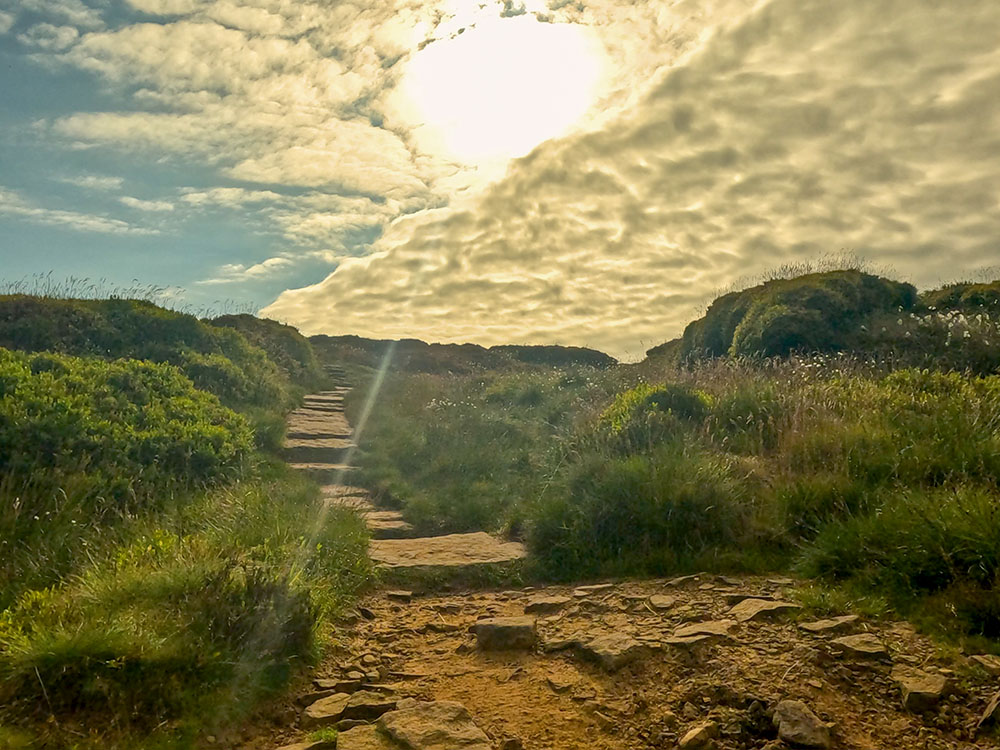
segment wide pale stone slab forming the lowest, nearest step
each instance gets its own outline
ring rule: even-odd
[[[523,544],[502,542],[484,531],[416,539],[374,539],[368,548],[371,559],[386,568],[454,568],[505,563],[520,560],[527,554]]]

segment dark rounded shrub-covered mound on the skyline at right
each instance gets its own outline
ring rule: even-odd
[[[961,341],[961,346],[954,345]],[[1000,370],[1000,281],[917,293],[857,270],[768,281],[716,299],[681,338],[646,352],[660,363],[842,353],[890,366]]]

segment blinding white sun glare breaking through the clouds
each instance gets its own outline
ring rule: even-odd
[[[400,93],[423,148],[481,165],[566,133],[594,104],[603,70],[586,27],[479,16],[418,52]]]

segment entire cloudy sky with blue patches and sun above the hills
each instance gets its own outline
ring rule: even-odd
[[[0,0],[7,282],[625,359],[854,253],[1000,264],[995,0]]]

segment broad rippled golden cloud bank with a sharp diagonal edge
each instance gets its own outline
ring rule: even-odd
[[[735,279],[822,252],[925,285],[995,263],[1000,6],[770,0],[682,36],[692,48],[631,108],[395,222],[263,314],[637,356]]]

